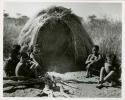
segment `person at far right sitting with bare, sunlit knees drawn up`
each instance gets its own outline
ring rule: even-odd
[[[100,80],[98,82],[97,88],[102,88],[103,83],[106,81],[110,81],[113,85],[113,82],[118,82],[118,75],[117,75],[117,68],[115,65],[115,58],[116,56],[113,54],[106,55],[106,61],[104,63],[104,67],[101,68],[100,71]]]

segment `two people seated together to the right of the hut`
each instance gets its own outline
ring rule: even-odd
[[[104,62],[103,62],[104,61]],[[86,64],[86,78],[92,77],[93,71],[97,68],[101,67],[100,78],[97,88],[102,88],[103,83],[106,81],[111,83],[111,86],[115,86],[118,83],[119,78],[119,68],[116,62],[115,54],[107,53],[105,58],[103,58],[101,54],[99,54],[99,46],[94,45],[92,48],[92,54],[90,54],[85,62]]]

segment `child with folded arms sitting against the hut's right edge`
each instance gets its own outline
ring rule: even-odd
[[[90,54],[85,62],[87,73],[86,78],[92,77],[92,69],[99,65],[99,61],[101,60],[101,55],[99,54],[99,46],[94,45],[92,48],[92,54]]]

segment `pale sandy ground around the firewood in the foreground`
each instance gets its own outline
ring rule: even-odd
[[[55,72],[50,72],[50,75],[61,77],[65,80],[72,80],[68,83],[70,86],[76,87],[71,88],[64,86],[65,89],[69,91],[68,95],[70,97],[121,97],[121,87],[110,87],[109,83],[105,83],[106,87],[102,89],[97,89],[96,85],[99,77],[94,76],[92,78],[85,78],[85,72],[69,72],[65,74],[59,74]],[[42,88],[33,87],[27,88],[25,86],[20,87],[7,87],[3,89],[4,97],[41,97]],[[58,97],[58,96],[56,96]]]

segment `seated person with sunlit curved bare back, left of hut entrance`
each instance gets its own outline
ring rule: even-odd
[[[27,53],[22,53],[19,63],[16,66],[16,76],[25,76],[31,78],[37,78],[38,64],[29,60]]]

